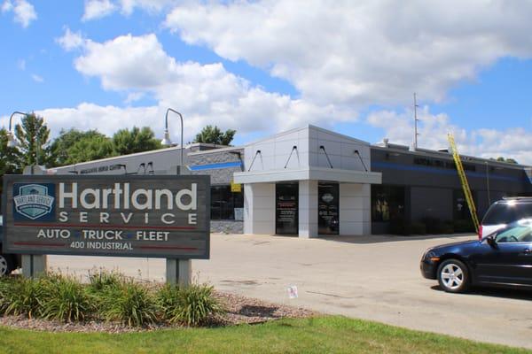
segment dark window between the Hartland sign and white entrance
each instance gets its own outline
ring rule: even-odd
[[[211,219],[242,219],[244,192],[231,192],[231,186],[211,186]],[[236,218],[235,218],[235,209]]]

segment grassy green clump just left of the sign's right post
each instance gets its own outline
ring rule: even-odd
[[[145,286],[122,281],[101,294],[101,309],[107,320],[119,320],[129,327],[144,326],[157,319],[157,304]]]

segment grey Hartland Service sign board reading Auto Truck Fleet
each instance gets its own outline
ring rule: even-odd
[[[210,178],[4,175],[4,251],[209,258]]]

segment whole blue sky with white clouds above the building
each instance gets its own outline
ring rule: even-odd
[[[530,2],[0,4],[3,126],[35,111],[52,135],[133,125],[161,135],[172,106],[189,140],[206,124],[237,129],[235,143],[315,124],[410,144],[416,91],[421,146],[446,146],[452,131],[466,153],[532,164],[532,44],[516,35],[532,30]]]

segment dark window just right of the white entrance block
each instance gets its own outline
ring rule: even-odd
[[[372,186],[372,221],[404,218],[404,187]]]

